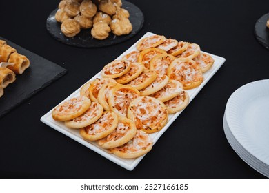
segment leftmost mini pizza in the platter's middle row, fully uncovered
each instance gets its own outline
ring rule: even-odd
[[[104,78],[118,78],[126,74],[131,68],[131,63],[128,60],[115,60],[103,67],[101,76]]]

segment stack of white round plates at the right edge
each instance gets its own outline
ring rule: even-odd
[[[269,177],[269,79],[243,85],[230,96],[223,128],[241,159]]]

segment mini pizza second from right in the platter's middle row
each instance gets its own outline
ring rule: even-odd
[[[159,99],[163,103],[169,101],[183,91],[183,86],[179,81],[169,80],[164,88],[151,94],[150,96]]]

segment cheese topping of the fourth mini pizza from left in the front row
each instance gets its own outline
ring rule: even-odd
[[[105,138],[101,139],[99,142],[107,143],[109,141],[117,141],[118,139],[121,139],[123,136],[125,136],[130,129],[131,129],[130,123],[128,123],[127,121],[119,120],[116,130],[114,130],[111,134],[109,134]]]

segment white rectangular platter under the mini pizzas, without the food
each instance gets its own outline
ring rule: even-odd
[[[141,37],[141,39],[143,39],[145,37],[150,37],[151,35],[154,35],[154,34],[151,32],[147,32],[145,35],[143,35],[143,37]],[[137,45],[137,43],[132,45],[128,50],[126,50],[126,52],[123,52],[123,54],[121,54],[117,59],[121,59],[124,55],[128,54],[129,52],[137,50],[136,45]],[[195,96],[199,93],[199,91],[203,88],[203,86],[206,85],[206,83],[208,83],[208,81],[211,79],[211,77],[217,72],[217,70],[219,70],[219,68],[221,68],[221,65],[223,65],[223,63],[225,62],[225,59],[223,57],[218,57],[218,56],[215,56],[213,54],[210,54],[210,56],[213,57],[213,59],[215,59],[215,63],[214,63],[214,65],[212,65],[212,68],[210,68],[210,70],[208,70],[206,73],[203,74],[203,77],[204,77],[203,83],[201,83],[201,85],[199,85],[199,87],[197,87],[197,88],[187,90],[187,92],[190,96],[190,102],[192,101],[192,99],[195,98]],[[96,74],[89,81],[92,81],[98,77],[101,77],[101,72]],[[79,96],[80,89],[81,88],[78,88],[76,91],[74,91],[70,96],[68,96],[63,101],[67,101],[73,97]],[[187,108],[188,108],[188,106],[187,106]],[[52,110],[53,109],[54,108],[52,108]],[[41,121],[43,123],[45,123],[46,125],[49,125],[51,128],[54,128],[55,130],[61,132],[62,134],[69,136],[71,139],[74,139],[75,141],[81,143],[82,145],[85,145],[86,147],[90,148],[90,150],[93,150],[94,152],[101,154],[101,156],[106,157],[106,159],[109,159],[110,161],[117,163],[118,165],[126,168],[127,170],[133,170],[137,166],[137,164],[143,159],[143,156],[141,156],[137,159],[121,159],[117,156],[114,156],[114,154],[108,153],[105,149],[100,148],[96,143],[91,142],[91,141],[86,141],[85,139],[83,139],[79,134],[79,130],[69,129],[64,125],[64,123],[61,123],[59,121],[54,121],[54,119],[52,119],[52,110],[50,110],[50,112],[46,113],[44,116],[41,117]],[[169,118],[168,118],[168,123],[164,126],[164,128],[159,132],[150,134],[150,136],[152,137],[153,143],[156,143],[158,141],[159,137],[164,132],[166,132],[166,130],[169,128],[169,126],[172,124],[172,122],[175,121],[175,119],[177,119],[177,117],[179,116],[179,114],[181,114],[181,112],[177,112],[176,114],[170,114]],[[152,148],[151,151],[154,151],[154,148]]]

